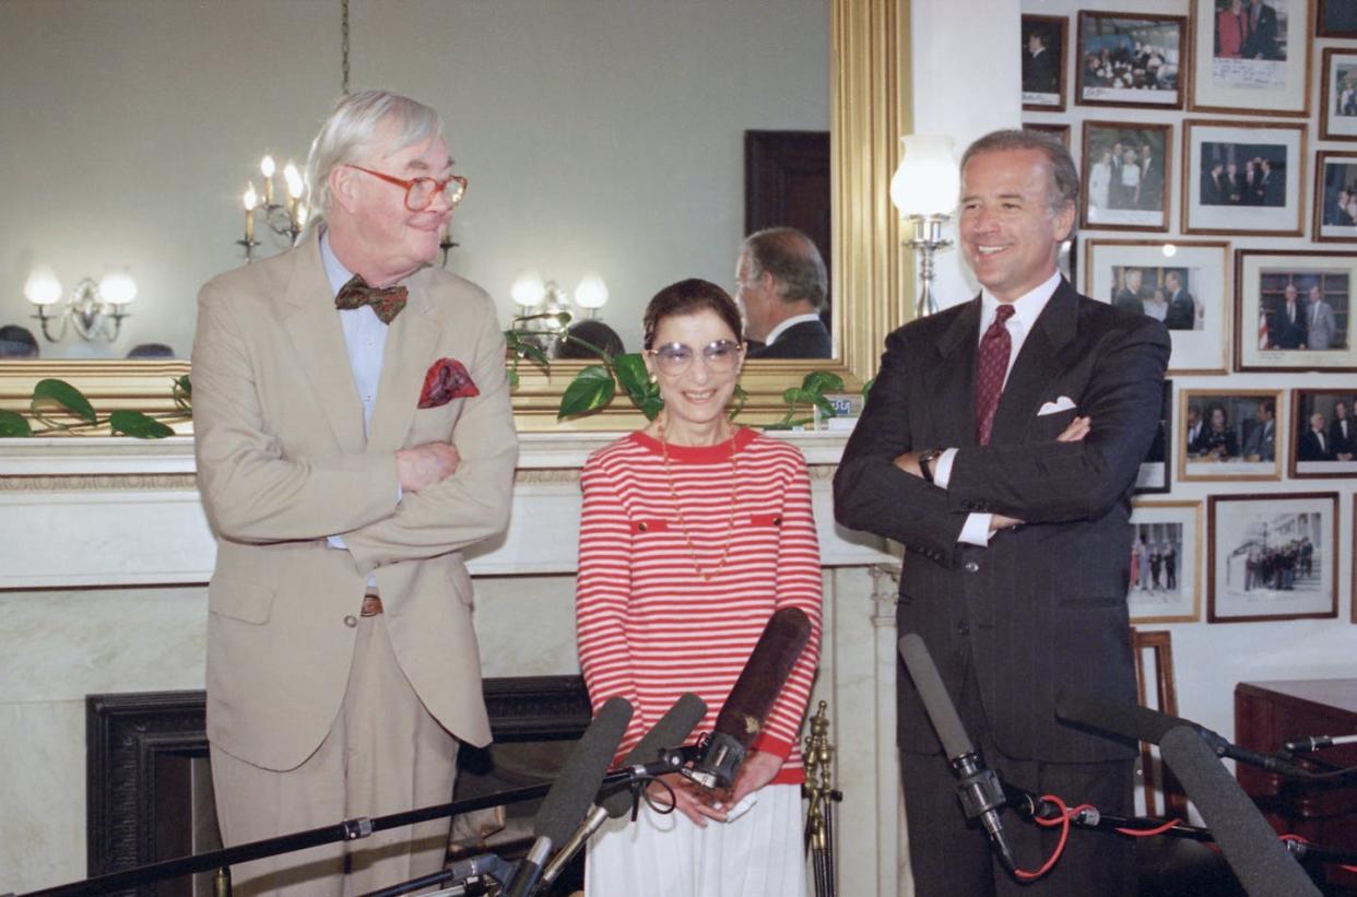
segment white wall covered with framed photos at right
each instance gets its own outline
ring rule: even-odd
[[[1357,634],[1357,24],[1265,5],[1025,0],[1014,47],[1084,178],[1075,285],[1172,334],[1129,600],[1219,731],[1238,681],[1352,676]]]

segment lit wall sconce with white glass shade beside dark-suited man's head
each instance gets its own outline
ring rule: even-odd
[[[919,251],[919,303],[915,316],[938,311],[932,292],[934,252],[951,246],[942,228],[957,209],[961,170],[953,156],[951,137],[911,134],[900,138],[905,155],[890,179],[890,201],[915,224],[915,237],[905,243]]]

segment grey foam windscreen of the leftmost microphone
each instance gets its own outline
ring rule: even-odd
[[[533,820],[532,833],[551,839],[555,845],[565,844],[575,826],[593,806],[608,764],[617,753],[617,745],[627,734],[631,722],[631,704],[622,698],[609,698],[598,708],[598,715],[589,729],[575,742],[547,797]]]

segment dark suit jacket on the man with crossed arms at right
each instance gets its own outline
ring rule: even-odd
[[[1061,281],[1010,372],[987,446],[974,434],[978,335],[977,299],[887,338],[835,476],[835,514],[905,546],[900,632],[923,636],[954,695],[965,657],[973,660],[1000,750],[1049,761],[1128,759],[1129,745],[1057,723],[1053,706],[1067,683],[1136,699],[1128,521],[1159,427],[1168,332]],[[1060,396],[1092,417],[1082,442],[1054,441],[1076,408],[1038,415]],[[893,464],[928,448],[958,449],[946,490]],[[972,512],[1027,524],[995,533],[985,548],[965,546],[957,536]],[[906,750],[939,748],[904,669],[898,738]]]

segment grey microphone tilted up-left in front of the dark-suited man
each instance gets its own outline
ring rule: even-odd
[[[968,820],[980,818],[980,824],[989,836],[989,844],[999,856],[999,862],[1006,870],[1012,873],[1018,869],[1014,860],[1012,847],[1004,833],[1003,820],[999,818],[999,807],[1004,805],[1004,786],[993,769],[985,767],[985,761],[976,753],[966,736],[966,727],[957,715],[957,706],[947,696],[947,688],[942,684],[942,676],[928,654],[928,646],[917,632],[911,632],[900,639],[900,657],[909,669],[909,677],[915,680],[919,698],[924,703],[928,722],[932,723],[942,742],[943,753],[951,763],[953,771],[961,779],[957,786],[957,795],[961,798],[961,807]]]

